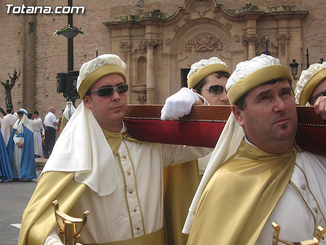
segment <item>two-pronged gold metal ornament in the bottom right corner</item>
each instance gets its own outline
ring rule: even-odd
[[[271,223],[271,227],[274,228],[273,245],[278,245],[279,242],[282,242],[283,244],[286,245],[319,245],[320,239],[322,238],[322,234],[326,233],[326,230],[324,228],[318,226],[316,235],[311,240],[292,242],[292,241],[287,241],[279,238],[281,227],[278,224],[273,222]]]

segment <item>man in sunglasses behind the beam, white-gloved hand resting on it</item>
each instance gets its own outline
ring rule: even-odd
[[[230,105],[225,85],[230,77],[228,65],[217,57],[192,64],[187,75],[188,88],[181,88],[168,97],[161,111],[161,120],[175,120],[190,113],[193,105]],[[211,154],[198,159],[202,176]]]

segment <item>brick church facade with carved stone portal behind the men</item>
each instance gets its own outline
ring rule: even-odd
[[[3,2],[0,81],[20,70],[12,89],[15,111],[38,110],[44,118],[55,106],[58,118],[66,99],[56,91],[56,75],[67,72],[67,39],[53,32],[67,26],[67,15],[7,14]],[[67,6],[67,0],[14,2]],[[268,54],[289,71],[296,60],[296,77],[307,68],[307,48],[310,64],[326,56],[326,10],[317,0],[74,0],[73,6],[85,6],[84,14],[73,15],[73,26],[86,33],[73,40],[74,70],[95,58],[96,48],[99,55],[119,55],[127,65],[128,104],[164,104],[185,86],[188,69],[200,59],[219,57],[233,71],[238,62],[265,54],[266,37]],[[0,107],[5,108],[2,85]]]

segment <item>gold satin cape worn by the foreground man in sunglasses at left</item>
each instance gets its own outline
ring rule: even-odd
[[[114,154],[118,152],[123,137],[147,143],[134,139],[127,130],[122,134],[103,129],[102,131]],[[169,240],[170,245],[186,244],[188,235],[182,234],[181,230],[199,184],[198,164],[197,161],[186,162],[164,170],[165,197],[167,197],[167,200],[164,198],[165,239]],[[58,226],[51,202],[58,200],[60,210],[68,213],[87,188],[87,185],[77,183],[73,178],[74,172],[60,171],[48,171],[40,176],[35,192],[23,213],[18,245],[44,244],[49,233]],[[129,244],[134,244],[132,239],[124,240],[123,244],[128,244],[127,241],[130,242]]]

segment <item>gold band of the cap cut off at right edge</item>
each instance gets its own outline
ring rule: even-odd
[[[315,88],[326,79],[326,67],[318,70],[308,79],[299,97],[299,105],[305,106]]]

